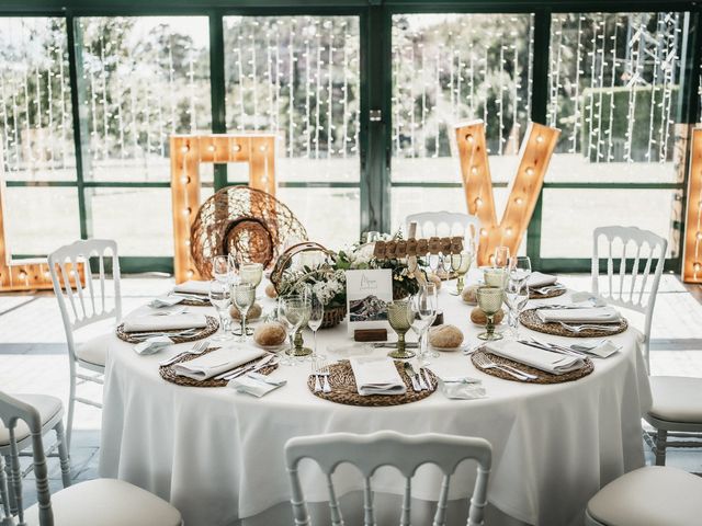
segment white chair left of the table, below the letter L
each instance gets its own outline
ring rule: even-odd
[[[106,265],[112,264],[113,297],[110,297]],[[86,285],[81,285],[75,272],[79,263],[84,263]],[[92,265],[94,263],[94,265]],[[75,403],[80,402],[95,408],[102,404],[93,400],[78,397],[78,382],[91,381],[102,385],[105,369],[105,345],[102,338],[94,338],[82,343],[76,341],[76,331],[92,323],[114,318],[115,324],[122,319],[122,296],[120,291],[120,262],[117,243],[113,240],[88,239],[76,241],[59,248],[48,255],[49,272],[54,283],[54,293],[64,321],[66,343],[68,345],[70,367],[70,397],[68,401],[68,419],[66,422],[67,444],[70,451],[70,439],[73,426]],[[69,266],[72,270],[69,270]],[[97,278],[91,273],[97,272]],[[75,283],[70,283],[70,274]],[[83,373],[83,369],[87,369]],[[95,373],[95,374],[91,374]]]

